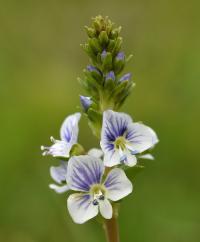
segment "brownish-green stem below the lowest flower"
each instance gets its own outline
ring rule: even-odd
[[[118,221],[115,216],[113,216],[111,219],[105,220],[104,230],[107,242],[120,242]]]

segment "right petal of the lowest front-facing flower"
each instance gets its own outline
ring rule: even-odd
[[[133,190],[133,185],[127,178],[122,169],[114,168],[108,173],[104,182],[107,188],[107,198],[112,201],[118,201],[130,194]]]

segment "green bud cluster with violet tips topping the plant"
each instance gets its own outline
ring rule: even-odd
[[[85,26],[85,30],[88,39],[81,46],[89,56],[90,65],[84,69],[84,77],[79,82],[91,98],[91,105],[84,112],[93,131],[94,126],[97,131],[103,111],[118,110],[134,86],[130,73],[121,75],[131,55],[126,57],[121,51],[121,27],[114,27],[108,17],[93,18],[91,27]]]

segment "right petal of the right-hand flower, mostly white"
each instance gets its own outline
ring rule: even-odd
[[[141,123],[128,125],[126,139],[129,141],[128,148],[134,154],[141,153],[158,142],[157,135],[153,129]]]

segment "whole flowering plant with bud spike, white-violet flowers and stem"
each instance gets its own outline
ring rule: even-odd
[[[88,96],[80,96],[80,103],[99,148],[85,151],[78,143],[81,113],[75,113],[64,120],[60,140],[51,137],[53,144],[41,149],[43,155],[60,160],[59,166],[50,168],[56,184],[49,187],[57,193],[74,191],[67,199],[73,221],[82,224],[100,214],[108,241],[118,242],[119,202],[133,191],[126,173],[141,167],[139,159],[153,159],[147,151],[158,138],[150,127],[118,112],[134,87],[130,73],[121,75],[131,58],[121,51],[121,28],[114,28],[108,17],[97,16],[85,29],[88,40],[82,47],[90,65],[79,82]]]

